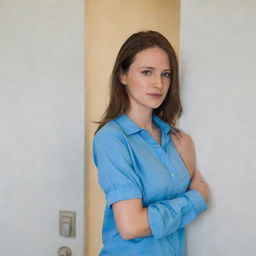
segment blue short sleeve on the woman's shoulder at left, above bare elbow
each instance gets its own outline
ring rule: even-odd
[[[96,133],[93,139],[93,160],[108,207],[117,201],[142,198],[140,181],[121,132],[111,130]]]

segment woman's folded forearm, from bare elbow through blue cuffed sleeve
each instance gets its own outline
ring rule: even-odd
[[[204,210],[205,201],[196,191],[150,204],[136,218],[129,239],[150,235],[163,238],[193,221]]]

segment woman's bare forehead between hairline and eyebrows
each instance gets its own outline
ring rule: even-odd
[[[169,57],[167,53],[160,47],[152,47],[138,52],[135,55],[133,66],[158,66],[161,68],[169,68]]]

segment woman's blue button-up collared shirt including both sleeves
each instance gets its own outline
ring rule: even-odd
[[[183,256],[184,227],[206,210],[170,137],[172,127],[152,115],[161,130],[161,145],[126,114],[107,122],[94,136],[93,160],[105,193],[100,256]],[[148,207],[151,236],[123,239],[112,204],[141,198]]]

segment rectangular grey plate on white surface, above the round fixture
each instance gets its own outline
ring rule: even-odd
[[[72,211],[59,211],[59,232],[61,236],[65,237],[75,237],[76,236],[76,212]],[[70,224],[70,232],[67,235],[66,230],[64,230],[64,223]]]

